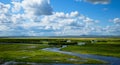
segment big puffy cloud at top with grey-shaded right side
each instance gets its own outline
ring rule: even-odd
[[[22,7],[25,13],[34,15],[51,15],[52,7],[49,0],[23,0]]]

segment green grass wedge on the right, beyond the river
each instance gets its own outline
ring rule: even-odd
[[[99,42],[96,44],[87,44],[82,46],[68,46],[63,48],[64,51],[82,53],[82,54],[96,54],[104,56],[120,57],[120,42],[105,43]]]

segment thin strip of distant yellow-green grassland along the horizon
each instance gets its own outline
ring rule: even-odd
[[[59,42],[63,40],[72,41],[106,41],[120,42],[120,38],[0,38],[0,43],[36,43],[42,44],[42,41]]]

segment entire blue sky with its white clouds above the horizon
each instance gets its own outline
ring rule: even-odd
[[[118,36],[119,3],[119,0],[0,0],[0,36]]]

